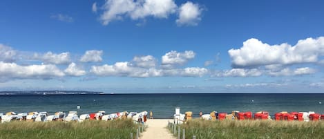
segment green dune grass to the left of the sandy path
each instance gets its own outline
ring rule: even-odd
[[[0,124],[0,139],[95,139],[130,138],[136,133],[137,124],[132,120],[84,121],[84,122],[19,122]]]

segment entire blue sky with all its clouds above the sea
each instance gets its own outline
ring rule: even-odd
[[[0,91],[323,93],[324,1],[1,1]]]

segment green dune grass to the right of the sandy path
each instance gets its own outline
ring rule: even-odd
[[[324,122],[191,120],[187,124],[182,124],[181,129],[186,130],[186,138],[192,138],[195,135],[197,139],[324,138]]]

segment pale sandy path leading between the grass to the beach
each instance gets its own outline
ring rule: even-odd
[[[171,133],[166,129],[170,119],[149,119],[146,121],[148,128],[140,139],[174,139]]]

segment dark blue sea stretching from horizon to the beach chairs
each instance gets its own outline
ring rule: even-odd
[[[81,109],[77,109],[77,105]],[[324,94],[113,94],[113,95],[0,95],[0,113],[15,111],[153,111],[154,118],[172,118],[175,107],[180,112],[193,111],[315,111],[324,114]]]

